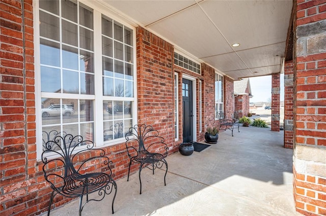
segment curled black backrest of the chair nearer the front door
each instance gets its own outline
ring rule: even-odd
[[[168,155],[168,145],[164,142],[164,138],[159,136],[157,130],[154,130],[152,126],[135,125],[134,127],[129,128],[128,132],[125,135],[126,138],[126,147],[128,155],[130,157],[130,147],[132,143],[136,142],[137,145],[132,147],[136,151],[159,151],[163,156]],[[161,149],[163,148],[163,149]]]

